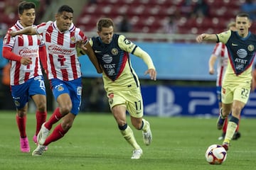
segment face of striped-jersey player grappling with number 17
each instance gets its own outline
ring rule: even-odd
[[[68,30],[71,26],[71,23],[73,23],[73,13],[63,11],[61,14],[56,14],[55,19],[60,32],[64,32]]]

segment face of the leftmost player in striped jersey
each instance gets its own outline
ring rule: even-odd
[[[34,8],[24,9],[22,14],[18,14],[23,27],[32,26],[36,19],[36,11]]]

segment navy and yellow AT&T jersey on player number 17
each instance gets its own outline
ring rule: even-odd
[[[92,38],[90,45],[103,69],[102,78],[106,91],[134,89],[140,86],[129,53],[142,57],[148,68],[154,69],[151,57],[124,35],[114,34],[110,44],[104,44],[100,37]]]

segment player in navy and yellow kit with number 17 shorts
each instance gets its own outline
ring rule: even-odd
[[[102,67],[102,79],[110,109],[124,139],[133,147],[131,158],[139,159],[142,156],[142,148],[127,125],[126,112],[129,112],[134,128],[142,130],[145,145],[150,145],[152,135],[149,122],[142,118],[143,101],[139,79],[132,69],[129,53],[144,60],[148,67],[145,74],[149,74],[153,80],[156,80],[156,69],[148,53],[124,35],[114,34],[112,19],[100,19],[97,22],[97,34],[97,37],[90,40],[90,45]]]

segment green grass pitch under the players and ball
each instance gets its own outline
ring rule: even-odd
[[[36,148],[32,140],[35,115],[28,114],[31,152],[26,154],[19,150],[15,113],[0,111],[0,169],[255,169],[255,119],[242,118],[242,137],[231,142],[226,161],[210,165],[205,159],[207,147],[221,144],[218,141],[221,132],[215,128],[216,118],[145,118],[153,132],[150,146],[143,144],[142,132],[132,128],[144,151],[141,159],[130,159],[132,147],[121,136],[114,118],[100,113],[80,113],[65,137],[51,143],[42,157],[32,157],[31,152]],[[127,120],[131,125],[129,118]]]

